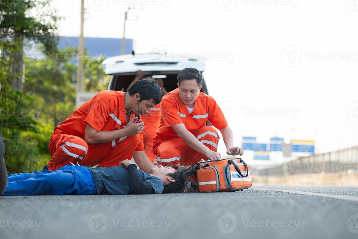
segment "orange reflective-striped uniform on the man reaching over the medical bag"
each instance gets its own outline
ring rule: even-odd
[[[179,166],[190,166],[201,159],[208,159],[179,138],[171,127],[176,124],[184,124],[200,143],[217,151],[219,135],[212,126],[206,126],[206,121],[209,120],[219,130],[228,124],[213,97],[200,92],[195,100],[194,110],[189,114],[187,106],[179,98],[177,88],[166,94],[160,105],[160,125],[153,139],[153,149],[159,164],[177,169]]]

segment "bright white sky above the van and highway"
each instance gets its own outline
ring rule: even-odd
[[[123,3],[128,2],[141,1],[85,0],[84,36],[122,38],[128,6]],[[236,146],[242,136],[256,136],[262,143],[275,136],[286,143],[316,140],[316,153],[358,145],[356,0],[144,3],[143,9],[129,12],[129,19],[137,20],[126,26],[136,53],[166,45],[174,53],[218,54],[219,60],[207,60],[204,77],[209,94],[233,111],[228,118]],[[58,34],[79,35],[81,1],[57,0],[54,7],[65,17]],[[292,58],[295,53],[299,57]],[[337,60],[344,53],[346,59]],[[289,56],[296,66],[287,66]],[[284,115],[252,111],[265,108],[283,109]],[[299,112],[297,117],[291,110]],[[219,151],[226,152],[222,140]]]

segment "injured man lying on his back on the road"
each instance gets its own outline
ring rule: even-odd
[[[147,174],[128,159],[120,166],[66,165],[56,171],[15,173],[8,176],[3,196],[181,193],[187,184],[184,173],[171,167],[159,165]]]

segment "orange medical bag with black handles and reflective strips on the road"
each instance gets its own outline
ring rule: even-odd
[[[250,165],[241,158],[195,163],[185,174],[197,178],[200,192],[233,192],[252,186]]]

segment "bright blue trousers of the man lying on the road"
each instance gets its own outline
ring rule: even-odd
[[[8,185],[2,196],[92,194],[97,194],[97,188],[90,169],[70,164],[56,171],[8,175]]]

